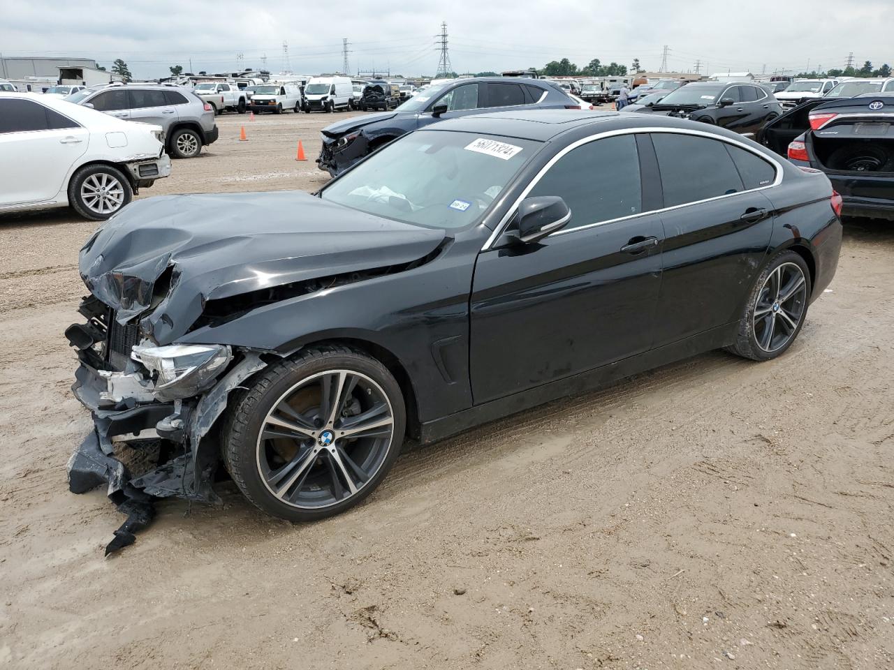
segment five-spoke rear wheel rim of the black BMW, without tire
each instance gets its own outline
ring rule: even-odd
[[[772,353],[789,344],[804,318],[806,306],[804,271],[794,263],[781,264],[757,294],[752,319],[757,346]]]

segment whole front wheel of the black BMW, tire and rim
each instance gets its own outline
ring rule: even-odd
[[[312,521],[366,498],[400,454],[401,388],[356,349],[323,346],[270,366],[232,404],[223,460],[269,515]]]

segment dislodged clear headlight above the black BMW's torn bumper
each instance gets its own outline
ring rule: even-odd
[[[195,396],[214,381],[232,359],[226,345],[172,344],[167,347],[137,346],[131,358],[155,377],[156,400]]]

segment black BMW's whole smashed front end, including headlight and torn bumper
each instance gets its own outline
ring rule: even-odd
[[[79,311],[87,322],[65,336],[80,361],[72,391],[94,429],[69,460],[69,488],[105,484],[128,516],[108,555],[134,541],[158,498],[219,502],[212,490],[218,448],[209,432],[230,391],[266,363],[256,352],[234,357],[226,346],[156,347],[139,323],[117,321],[97,297],[86,297]]]

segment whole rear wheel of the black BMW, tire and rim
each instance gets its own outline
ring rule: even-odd
[[[776,255],[755,282],[729,351],[753,361],[785,353],[804,325],[812,288],[804,258],[794,251]]]

